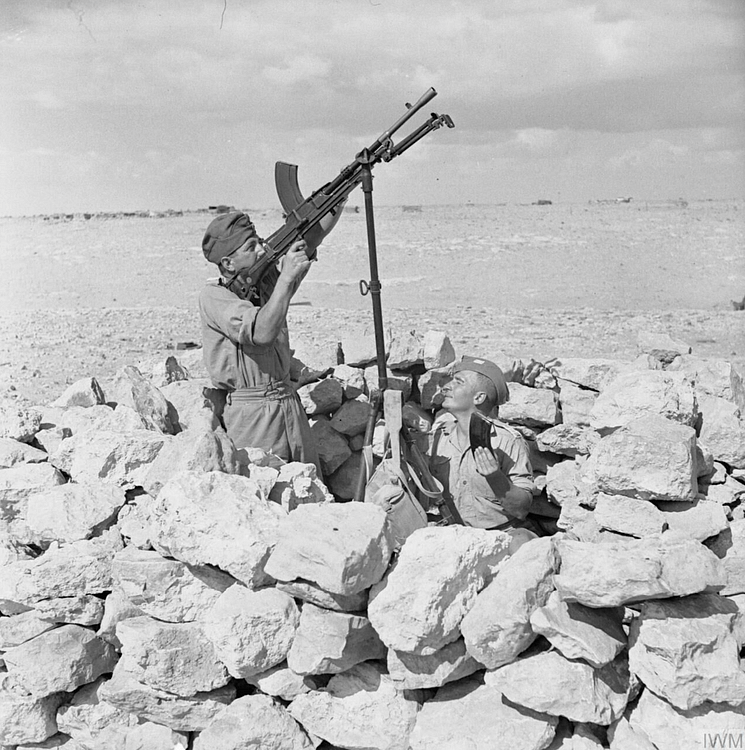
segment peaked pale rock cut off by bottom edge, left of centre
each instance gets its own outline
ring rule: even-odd
[[[194,750],[312,750],[308,735],[287,709],[268,695],[233,701],[194,740]]]

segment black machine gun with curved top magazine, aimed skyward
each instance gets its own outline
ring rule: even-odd
[[[305,240],[306,254],[312,260],[324,237],[336,226],[349,194],[366,180],[371,168],[381,162],[389,162],[413,146],[428,133],[445,125],[455,127],[449,115],[432,113],[429,119],[399,143],[392,141],[393,134],[413,115],[431,101],[437,92],[430,88],[416,104],[406,105],[406,112],[383,132],[370,146],[357,154],[355,160],[344,167],[331,182],[316,190],[309,198],[304,198],[297,181],[297,166],[278,161],[274,168],[274,182],[277,195],[285,212],[285,223],[264,241],[266,254],[254,265],[250,275],[237,276],[227,280],[226,285],[245,298],[255,298],[260,303],[271,293],[271,284],[262,285],[268,271],[276,267],[277,261],[287,253],[297,240]],[[364,186],[363,186],[364,189]],[[372,189],[372,177],[370,177]],[[368,229],[369,236],[369,229]],[[364,282],[360,282],[361,289]],[[368,285],[369,289],[372,289]],[[363,294],[366,291],[363,290]]]

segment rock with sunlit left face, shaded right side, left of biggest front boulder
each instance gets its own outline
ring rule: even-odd
[[[386,648],[362,615],[304,604],[287,666],[298,674],[337,674],[370,659],[385,659]]]

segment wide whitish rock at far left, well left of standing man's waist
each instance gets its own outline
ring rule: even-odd
[[[63,440],[49,460],[75,482],[137,487],[142,486],[166,439],[145,429],[114,432],[91,427]]]

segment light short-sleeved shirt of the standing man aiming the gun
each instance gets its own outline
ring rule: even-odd
[[[204,364],[216,388],[234,391],[290,377],[287,326],[268,346],[254,344],[256,316],[261,308],[210,280],[199,295]]]

